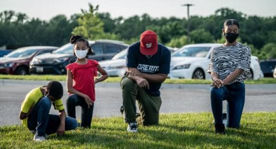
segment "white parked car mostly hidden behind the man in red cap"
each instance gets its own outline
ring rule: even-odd
[[[174,53],[178,48],[167,47],[171,53]],[[111,60],[99,62],[100,66],[105,69],[109,76],[123,76],[126,69],[126,54],[127,49],[116,54]]]

